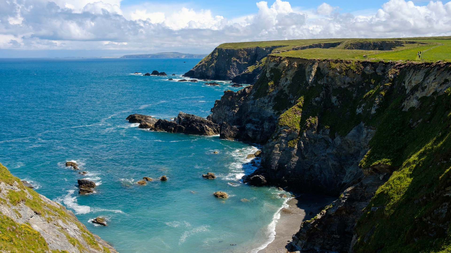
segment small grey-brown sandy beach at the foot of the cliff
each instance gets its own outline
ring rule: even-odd
[[[334,200],[336,198],[316,194],[302,194],[290,199],[287,202],[288,208],[281,210],[281,217],[276,223],[276,237],[258,253],[287,253],[285,246],[299,231],[302,221],[313,218]]]

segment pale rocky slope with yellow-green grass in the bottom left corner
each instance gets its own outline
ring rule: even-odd
[[[0,164],[0,252],[116,251],[74,213],[29,189]]]

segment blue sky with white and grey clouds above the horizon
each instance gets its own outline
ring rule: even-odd
[[[208,54],[226,42],[451,36],[451,1],[0,0],[0,58]]]

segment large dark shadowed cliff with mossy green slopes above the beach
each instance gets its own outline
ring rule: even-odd
[[[440,251],[450,239],[450,76],[444,62],[270,55],[255,84],[225,91],[208,118],[221,137],[264,144],[247,181],[340,195],[304,221],[295,249]]]

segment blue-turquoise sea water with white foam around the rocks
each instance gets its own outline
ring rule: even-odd
[[[256,252],[272,239],[285,203],[274,188],[239,181],[254,169],[245,163],[256,146],[147,131],[125,120],[180,111],[206,117],[224,90],[238,90],[131,74],[158,70],[180,79],[198,61],[0,59],[0,162],[120,253]],[[65,167],[70,160],[88,174]],[[203,179],[207,172],[218,178]],[[162,175],[168,181],[136,184]],[[96,192],[78,195],[79,178],[95,181]],[[217,190],[230,198],[216,199]],[[97,216],[109,226],[89,222]]]

